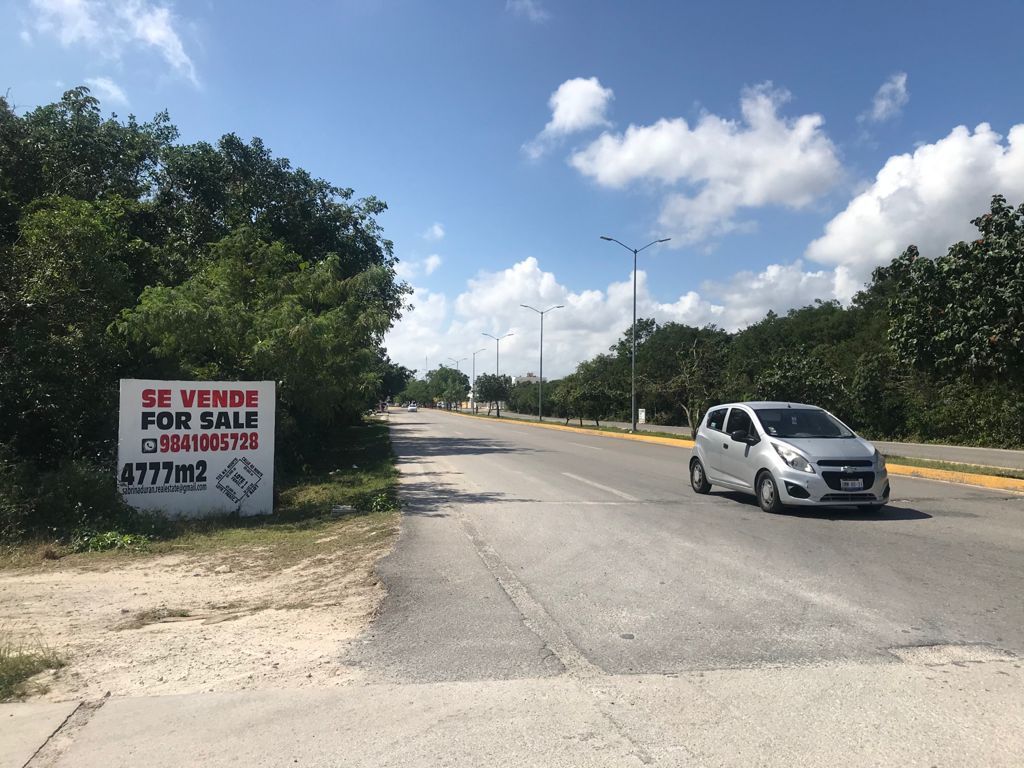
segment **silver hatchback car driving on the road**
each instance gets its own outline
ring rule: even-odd
[[[856,506],[889,501],[886,460],[871,443],[815,406],[716,406],[697,429],[690,484],[754,494],[765,512],[793,506]]]

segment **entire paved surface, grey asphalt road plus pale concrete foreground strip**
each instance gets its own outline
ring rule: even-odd
[[[766,515],[692,494],[679,447],[391,421],[359,682],[94,702],[29,768],[1020,764],[1024,496]]]

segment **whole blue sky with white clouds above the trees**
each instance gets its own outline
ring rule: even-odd
[[[831,7],[831,6],[836,7]],[[839,7],[842,5],[843,7]],[[557,377],[638,315],[848,302],[1024,202],[1024,3],[0,0],[19,111],[85,84],[357,196],[415,290],[396,361]],[[469,358],[469,359],[466,359]],[[465,360],[465,361],[464,361]]]

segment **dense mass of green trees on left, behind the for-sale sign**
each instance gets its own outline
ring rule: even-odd
[[[0,98],[2,538],[128,514],[120,378],[276,381],[283,473],[411,378],[382,348],[409,290],[386,206],[258,138],[177,135],[86,88],[24,115]]]

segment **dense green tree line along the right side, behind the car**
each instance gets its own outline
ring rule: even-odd
[[[1024,205],[996,196],[973,223],[979,238],[939,258],[907,248],[848,307],[769,312],[733,334],[638,321],[638,407],[679,425],[716,402],[793,400],[878,438],[1024,445]],[[553,413],[628,421],[630,338],[547,384]],[[536,395],[517,408],[536,414]]]

